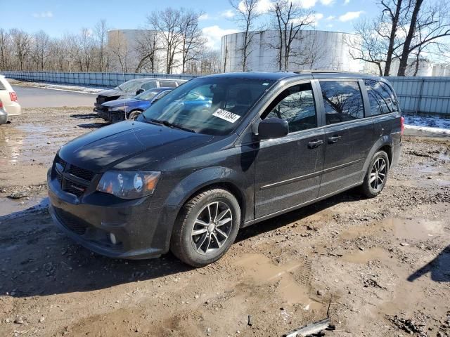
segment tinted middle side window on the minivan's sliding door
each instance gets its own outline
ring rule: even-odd
[[[364,118],[364,104],[356,81],[321,81],[326,124]]]

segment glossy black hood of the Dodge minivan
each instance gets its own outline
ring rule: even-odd
[[[203,145],[212,138],[167,126],[122,121],[75,138],[60,148],[59,156],[96,173],[109,169],[137,170]]]

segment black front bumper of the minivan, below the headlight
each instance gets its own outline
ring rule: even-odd
[[[122,206],[74,203],[71,195],[58,189],[58,181],[51,180],[51,174],[47,178],[53,221],[87,249],[127,259],[156,258],[169,250],[176,206],[149,208],[142,199],[124,201]],[[115,243],[110,234],[114,234]]]

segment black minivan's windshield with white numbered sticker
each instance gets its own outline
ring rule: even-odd
[[[193,79],[151,105],[138,121],[227,135],[273,84],[265,79]]]

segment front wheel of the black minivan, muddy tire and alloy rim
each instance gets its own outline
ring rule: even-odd
[[[200,192],[181,209],[170,250],[193,267],[209,265],[229,250],[239,226],[240,206],[233,194],[219,188]]]

